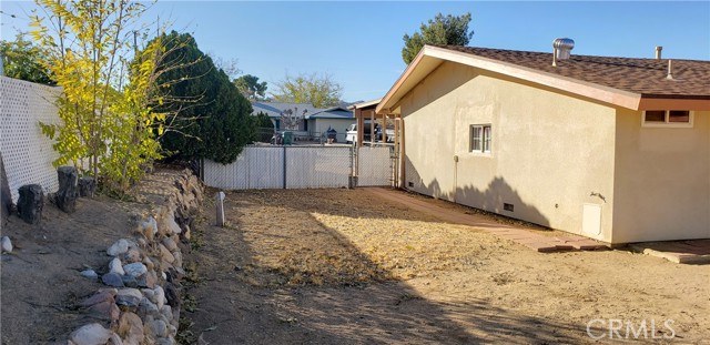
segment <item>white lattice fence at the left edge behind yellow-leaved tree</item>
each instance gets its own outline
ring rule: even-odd
[[[12,202],[24,184],[40,184],[45,193],[59,187],[52,166],[58,154],[38,124],[60,123],[54,106],[59,92],[58,88],[0,77],[0,152]]]

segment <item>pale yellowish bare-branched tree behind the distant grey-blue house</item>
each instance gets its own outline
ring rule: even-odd
[[[278,102],[311,103],[315,108],[334,106],[341,103],[343,87],[329,74],[300,74],[296,78],[286,74],[276,83],[274,100]]]

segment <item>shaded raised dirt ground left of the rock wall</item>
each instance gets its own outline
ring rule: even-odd
[[[74,328],[102,323],[78,304],[103,285],[79,273],[87,267],[105,273],[106,247],[131,234],[131,214],[144,207],[97,196],[79,199],[73,214],[45,203],[36,225],[10,216],[0,231],[14,246],[11,254],[2,254],[0,265],[2,344],[65,344]]]

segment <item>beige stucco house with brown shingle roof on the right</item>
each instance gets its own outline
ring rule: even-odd
[[[657,50],[658,51],[658,50]],[[426,45],[405,187],[610,243],[710,239],[710,61]]]

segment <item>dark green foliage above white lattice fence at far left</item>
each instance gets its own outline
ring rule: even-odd
[[[27,40],[24,33],[18,33],[14,41],[0,41],[0,55],[4,75],[41,84],[57,84],[51,71],[42,64],[47,60],[47,52]]]

